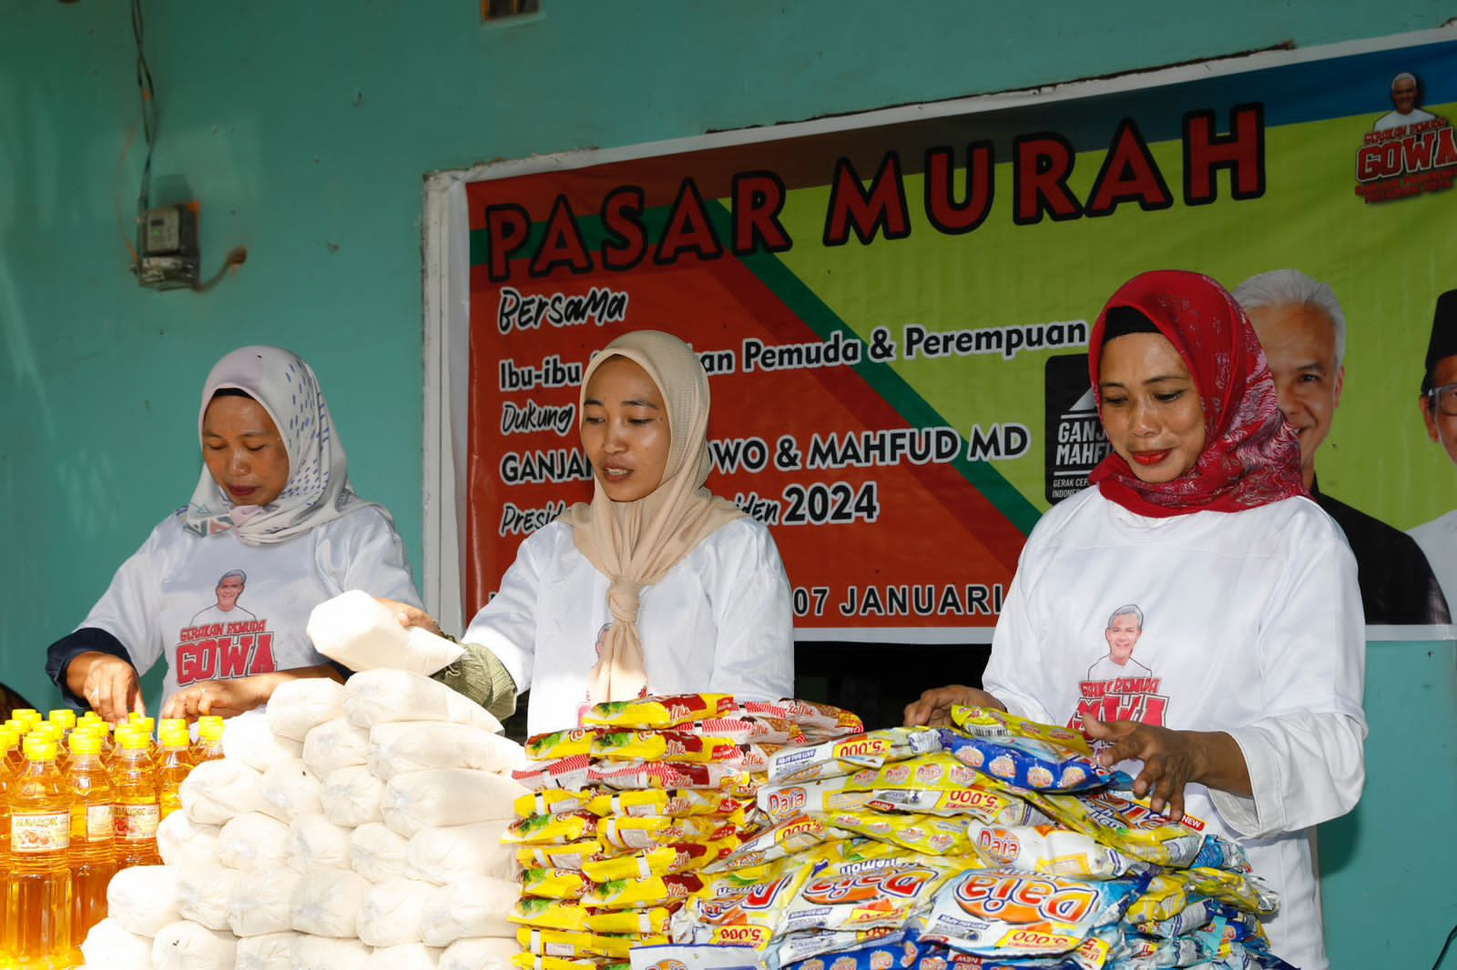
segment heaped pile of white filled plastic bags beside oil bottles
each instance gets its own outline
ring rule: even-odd
[[[296,680],[182,784],[165,865],[118,872],[106,970],[497,970],[520,953],[501,845],[522,747],[405,670]]]

